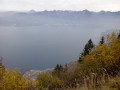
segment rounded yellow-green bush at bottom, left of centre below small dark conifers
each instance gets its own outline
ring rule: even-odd
[[[41,73],[38,75],[36,80],[39,83],[40,90],[54,90],[62,85],[62,81],[50,73]]]

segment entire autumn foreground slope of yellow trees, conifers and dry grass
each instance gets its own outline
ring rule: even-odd
[[[29,80],[0,63],[0,90],[120,90],[120,34],[90,39],[79,60]]]

